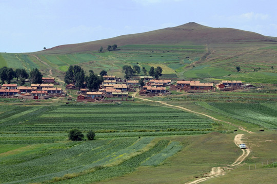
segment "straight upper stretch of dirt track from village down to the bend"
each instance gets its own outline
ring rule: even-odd
[[[145,99],[145,98],[141,98],[141,97],[135,97],[137,93],[138,93],[138,91],[136,91],[136,92],[132,95],[132,97],[133,97],[133,98],[141,99],[141,100],[143,100],[143,101],[159,102],[159,103],[161,103],[161,104],[163,104],[163,105],[167,105],[167,106],[170,106],[170,107],[179,108],[179,109],[186,110],[186,111],[188,111],[188,112],[192,112],[192,113],[196,113],[196,114],[201,114],[201,115],[203,115],[203,116],[205,116],[205,117],[208,117],[208,118],[210,118],[210,119],[212,119],[212,120],[224,122],[224,123],[227,123],[227,124],[232,125],[232,126],[234,126],[234,127],[238,127],[238,128],[239,128],[240,130],[242,130],[242,131],[245,131],[245,132],[248,132],[248,133],[254,133],[254,132],[252,132],[252,131],[250,131],[250,130],[244,129],[242,126],[237,126],[237,125],[234,125],[234,124],[232,124],[232,123],[230,123],[230,122],[216,119],[216,118],[214,118],[214,117],[212,117],[212,116],[209,116],[208,114],[205,114],[205,113],[196,112],[196,111],[190,110],[190,109],[188,109],[188,108],[181,107],[181,106],[177,106],[177,105],[171,105],[171,104],[168,104],[168,103],[166,103],[166,102],[155,101],[155,100],[149,100],[149,99]]]

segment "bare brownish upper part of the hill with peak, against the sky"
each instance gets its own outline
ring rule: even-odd
[[[119,47],[128,44],[209,44],[234,41],[273,41],[274,37],[267,37],[259,33],[243,31],[233,28],[212,28],[188,22],[187,24],[148,31],[136,34],[127,34],[113,38],[95,40],[83,43],[58,45],[51,49],[38,51],[42,54],[75,53],[98,50],[101,46],[117,44]]]

